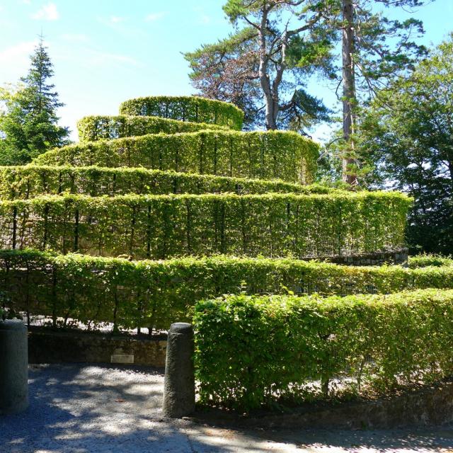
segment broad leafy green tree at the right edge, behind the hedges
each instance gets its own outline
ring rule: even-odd
[[[370,182],[404,190],[413,252],[453,253],[453,38],[396,79],[360,124],[360,148],[376,171]]]

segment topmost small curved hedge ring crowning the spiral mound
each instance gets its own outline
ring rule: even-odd
[[[243,111],[231,103],[197,96],[147,96],[125,101],[120,115],[143,115],[206,122],[241,130]]]

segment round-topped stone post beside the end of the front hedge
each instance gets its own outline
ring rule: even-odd
[[[164,415],[180,418],[195,411],[193,328],[171,324],[168,331],[164,381]]]

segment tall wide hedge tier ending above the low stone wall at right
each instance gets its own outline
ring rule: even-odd
[[[404,244],[399,193],[63,195],[0,202],[0,247],[132,258],[324,257]]]

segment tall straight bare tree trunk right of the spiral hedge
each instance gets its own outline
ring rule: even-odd
[[[357,184],[357,176],[350,173],[350,166],[354,164],[351,154],[354,151],[354,141],[352,134],[354,133],[355,117],[355,74],[354,61],[352,55],[354,53],[354,11],[352,8],[352,0],[343,0],[343,40],[342,40],[342,55],[343,55],[343,138],[347,151],[343,156],[343,181],[350,185]]]

